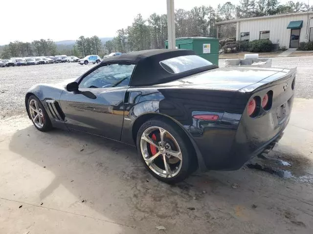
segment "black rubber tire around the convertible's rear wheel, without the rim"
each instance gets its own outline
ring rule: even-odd
[[[168,133],[170,133],[175,140],[177,141],[180,152],[181,152],[181,168],[179,173],[176,176],[173,177],[162,177],[157,175],[154,171],[150,169],[150,167],[145,162],[141,150],[140,150],[140,140],[143,132],[150,128],[150,127],[161,127],[164,130],[166,130]],[[157,179],[169,183],[174,184],[178,183],[182,180],[184,180],[186,177],[188,177],[192,172],[194,172],[197,169],[197,157],[195,155],[195,150],[193,145],[191,144],[189,138],[186,136],[184,131],[175,123],[172,123],[171,121],[165,119],[165,118],[152,118],[146,121],[141,125],[141,127],[138,130],[137,138],[136,138],[136,146],[138,151],[138,156],[140,157],[141,161],[147,168],[147,170],[152,174],[152,176],[156,177]]]

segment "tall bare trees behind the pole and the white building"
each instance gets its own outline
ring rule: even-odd
[[[216,37],[216,22],[247,17],[260,17],[284,13],[296,13],[313,10],[303,2],[289,1],[280,4],[278,0],[241,0],[238,5],[230,1],[212,6],[194,7],[189,11],[175,10],[176,37]],[[236,25],[221,25],[219,38],[235,35]],[[117,30],[117,36],[104,45],[105,52],[129,52],[135,50],[164,48],[167,39],[166,14],[152,14],[143,19],[139,14],[132,25]]]

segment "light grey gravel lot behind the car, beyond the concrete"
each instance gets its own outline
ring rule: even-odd
[[[296,97],[313,98],[313,56],[273,58],[273,67],[298,68]],[[220,59],[224,67],[225,60]],[[0,118],[25,112],[24,95],[34,84],[57,83],[77,78],[93,64],[58,63],[25,67],[0,68]]]

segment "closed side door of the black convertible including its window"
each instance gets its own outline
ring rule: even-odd
[[[79,81],[79,92],[64,91],[61,108],[68,128],[120,140],[124,98],[134,64],[96,66]]]

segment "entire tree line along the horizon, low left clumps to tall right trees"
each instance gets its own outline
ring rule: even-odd
[[[236,18],[259,17],[284,13],[296,13],[313,10],[303,2],[289,1],[280,4],[278,0],[241,0],[238,5],[230,1],[212,6],[194,7],[187,11],[175,10],[176,37],[216,37],[216,22]],[[219,38],[234,36],[236,26],[221,25]],[[97,36],[79,37],[71,48],[57,49],[56,44],[50,39],[34,40],[33,42],[14,41],[2,49],[2,58],[49,56],[67,54],[78,57],[97,54],[102,56],[112,52],[126,53],[129,51],[161,49],[167,39],[167,15],[152,14],[148,19],[143,19],[138,14],[132,25],[117,30],[117,36],[102,44]]]

